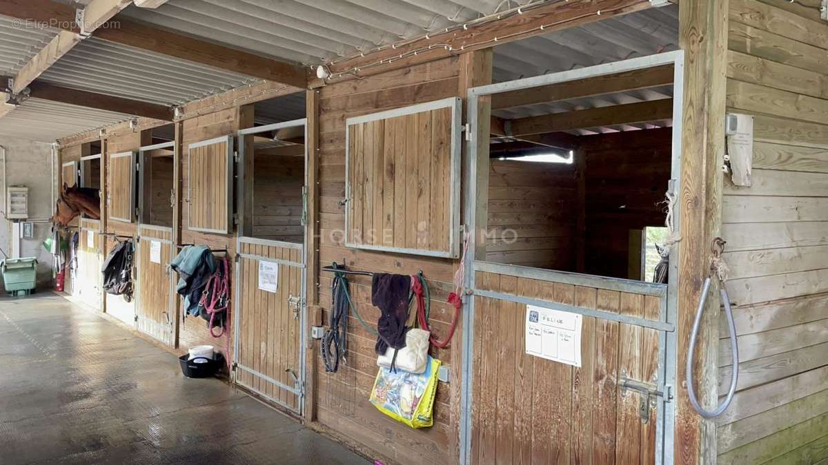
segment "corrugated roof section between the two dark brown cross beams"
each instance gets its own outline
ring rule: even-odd
[[[257,82],[190,61],[90,37],[41,74],[44,81],[166,105],[205,98]]]

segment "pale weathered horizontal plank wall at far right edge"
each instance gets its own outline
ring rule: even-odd
[[[730,2],[728,110],[755,115],[755,146],[753,185],[724,181],[741,362],[719,463],[828,458],[828,25],[817,3]],[[724,328],[722,317],[720,393],[734,371]]]

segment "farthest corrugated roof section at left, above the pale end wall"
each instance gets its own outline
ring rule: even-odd
[[[130,119],[124,113],[107,112],[66,103],[29,98],[0,118],[0,134],[32,141],[54,142],[96,127]]]

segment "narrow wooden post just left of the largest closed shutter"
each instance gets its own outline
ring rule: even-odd
[[[305,352],[305,422],[316,420],[316,397],[319,386],[319,372],[316,361],[319,360],[319,345],[310,338],[310,328],[322,324],[322,309],[319,306],[319,96],[320,91],[306,91],[305,104],[307,137],[305,152],[307,154],[307,227],[306,227],[306,344]]]

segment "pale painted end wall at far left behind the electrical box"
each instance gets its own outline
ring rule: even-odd
[[[38,261],[37,284],[38,289],[51,287],[52,258],[42,246],[46,237],[51,234],[51,218],[54,205],[53,175],[55,175],[55,160],[52,156],[52,146],[46,142],[28,141],[13,137],[0,136],[0,146],[6,149],[6,180],[0,183],[0,249],[11,254],[12,250],[12,221],[6,219],[7,185],[25,185],[29,188],[29,218],[34,223],[34,237],[22,239],[21,256],[35,256]],[[2,159],[2,150],[0,150]],[[0,160],[2,163],[2,160]],[[2,170],[2,166],[0,166]],[[2,177],[2,171],[0,171]],[[2,258],[2,254],[0,254]],[[5,289],[3,289],[5,291]]]

